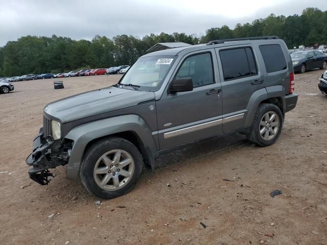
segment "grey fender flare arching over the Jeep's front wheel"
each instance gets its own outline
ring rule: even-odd
[[[149,155],[158,151],[150,128],[138,115],[123,115],[92,121],[72,129],[65,136],[74,141],[67,165],[66,178],[70,180],[78,178],[83,154],[90,141],[126,131],[135,133],[141,139],[145,148],[148,149]]]

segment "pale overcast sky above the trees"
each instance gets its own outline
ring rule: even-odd
[[[0,46],[26,35],[91,40],[161,32],[204,34],[206,29],[276,15],[327,10],[325,0],[0,0]]]

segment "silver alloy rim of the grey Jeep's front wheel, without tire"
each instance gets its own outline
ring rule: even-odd
[[[134,160],[123,150],[112,150],[103,154],[94,167],[94,179],[97,185],[108,191],[125,186],[134,173]]]

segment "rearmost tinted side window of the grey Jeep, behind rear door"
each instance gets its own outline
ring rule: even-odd
[[[259,48],[268,73],[287,68],[284,53],[279,44],[260,45]]]

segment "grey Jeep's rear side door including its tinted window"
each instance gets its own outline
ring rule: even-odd
[[[265,87],[251,45],[216,48],[223,96],[223,132],[244,126],[247,104],[256,90]]]

